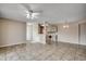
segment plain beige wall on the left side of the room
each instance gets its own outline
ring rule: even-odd
[[[23,43],[26,40],[26,23],[0,20],[0,47]]]

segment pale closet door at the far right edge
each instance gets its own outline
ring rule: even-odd
[[[86,46],[86,23],[81,24],[81,35],[79,35],[79,44]]]

